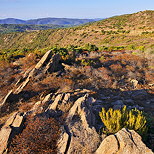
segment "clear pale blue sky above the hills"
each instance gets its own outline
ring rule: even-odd
[[[154,10],[154,0],[0,0],[0,18],[104,18]]]

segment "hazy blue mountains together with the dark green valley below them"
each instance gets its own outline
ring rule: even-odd
[[[20,20],[15,18],[7,18],[0,20],[0,33],[72,27],[98,20],[100,19],[39,18],[30,20]]]

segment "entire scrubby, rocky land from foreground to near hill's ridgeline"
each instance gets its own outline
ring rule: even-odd
[[[0,153],[152,154],[153,14],[0,34]]]

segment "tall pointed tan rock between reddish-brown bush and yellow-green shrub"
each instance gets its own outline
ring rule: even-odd
[[[87,98],[88,95],[78,98],[68,113],[65,130],[69,137],[64,133],[59,143],[67,143],[63,149],[65,153],[93,153],[100,143],[100,137],[94,128],[95,115]],[[61,148],[58,151],[62,154]]]

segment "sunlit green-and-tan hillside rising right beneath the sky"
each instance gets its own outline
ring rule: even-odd
[[[0,49],[46,48],[54,45],[143,46],[154,44],[154,11],[115,16],[82,26],[0,34]]]

